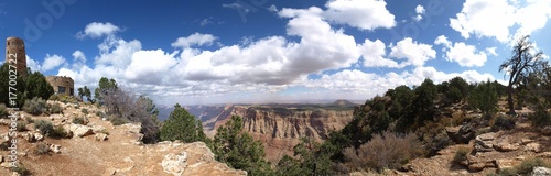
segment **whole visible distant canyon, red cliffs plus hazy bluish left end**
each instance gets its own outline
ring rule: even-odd
[[[185,109],[203,122],[210,138],[231,116],[241,117],[244,130],[263,143],[266,158],[274,164],[285,154],[292,156],[301,138],[322,142],[331,131],[343,129],[352,121],[357,105],[336,100],[329,103],[185,106]],[[161,108],[160,120],[168,119],[172,110]]]

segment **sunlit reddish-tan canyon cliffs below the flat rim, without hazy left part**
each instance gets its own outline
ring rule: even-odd
[[[285,154],[293,154],[293,147],[301,138],[324,141],[331,131],[343,129],[353,114],[353,108],[331,110],[234,106],[231,113],[216,121],[214,129],[223,125],[229,117],[240,116],[245,123],[244,130],[255,140],[260,140],[264,144],[266,158],[277,163]],[[210,135],[215,134],[213,131]]]

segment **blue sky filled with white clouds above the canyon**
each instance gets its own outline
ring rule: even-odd
[[[365,100],[400,85],[505,81],[530,34],[551,51],[549,0],[86,1],[0,3],[0,37],[28,65],[156,103]]]

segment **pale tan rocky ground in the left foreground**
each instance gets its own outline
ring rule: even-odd
[[[48,103],[52,103],[48,101]],[[24,121],[52,121],[54,125],[63,125],[73,133],[71,139],[44,138],[28,124],[29,131],[18,132],[18,158],[32,175],[247,175],[244,170],[229,168],[226,164],[214,160],[214,154],[202,142],[180,143],[161,142],[142,144],[139,133],[140,124],[127,123],[112,125],[109,121],[95,116],[102,111],[93,106],[63,105],[64,114],[30,116],[20,111]],[[88,123],[72,124],[72,117],[85,116],[80,109],[87,108]],[[0,121],[0,142],[8,143],[9,119]],[[36,154],[36,147],[47,144],[47,154]],[[0,151],[2,158],[0,175],[12,175],[9,169],[10,151]],[[15,174],[14,174],[15,175]]]

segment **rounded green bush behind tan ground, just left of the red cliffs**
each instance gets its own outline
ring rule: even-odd
[[[206,140],[201,121],[179,103],[174,106],[174,110],[171,112],[169,119],[164,121],[160,134],[161,141],[180,140],[185,143],[192,143]]]

